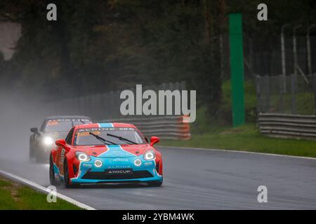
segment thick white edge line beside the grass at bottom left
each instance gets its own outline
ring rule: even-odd
[[[20,176],[16,176],[15,174],[11,174],[9,172],[4,172],[2,170],[0,170],[0,174],[3,174],[4,176],[8,177],[9,179],[15,179],[17,181],[20,181],[22,183],[25,183],[27,186],[35,189],[35,190],[39,190],[41,192],[44,192],[44,193],[51,193],[50,190],[48,190],[47,188],[43,187],[43,186],[40,186],[39,184],[37,183],[34,183],[32,181],[29,181],[27,179],[24,179]],[[56,193],[56,196],[59,197],[60,199],[62,200],[65,200],[67,202],[70,202],[71,204],[74,204],[76,205],[77,207],[81,208],[81,209],[86,209],[86,210],[96,210],[94,209],[93,207],[90,207],[84,203],[81,203],[81,202],[78,202],[76,200],[73,200],[71,197],[67,197],[66,195],[62,195],[60,193]]]

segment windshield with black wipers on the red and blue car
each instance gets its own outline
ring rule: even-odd
[[[100,138],[96,138],[96,136]],[[105,139],[106,141],[100,141],[100,139]],[[145,144],[145,141],[142,137],[140,137],[140,134],[137,132],[137,130],[130,127],[100,127],[80,129],[77,130],[74,136],[74,145],[77,146],[99,146],[111,144]]]

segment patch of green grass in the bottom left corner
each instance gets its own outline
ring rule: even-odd
[[[61,199],[48,203],[46,195],[0,176],[0,210],[77,210]]]

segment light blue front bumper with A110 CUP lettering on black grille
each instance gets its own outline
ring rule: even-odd
[[[137,159],[142,162],[140,166],[134,164]],[[94,165],[96,160],[102,162],[100,167]],[[72,167],[72,169],[74,169],[75,174],[75,177],[71,179],[72,184],[162,181],[155,160],[144,160],[143,155],[127,158],[97,158],[91,156],[89,162],[80,162],[78,167]],[[75,169],[77,169],[77,172]],[[131,173],[108,174],[106,172],[108,170],[129,170]]]

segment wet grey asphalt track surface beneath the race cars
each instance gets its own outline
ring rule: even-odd
[[[158,147],[159,149],[159,147]],[[316,160],[160,148],[162,187],[84,186],[58,192],[96,209],[316,209]],[[0,155],[0,169],[49,186],[48,165]],[[258,203],[258,186],[268,203]]]

